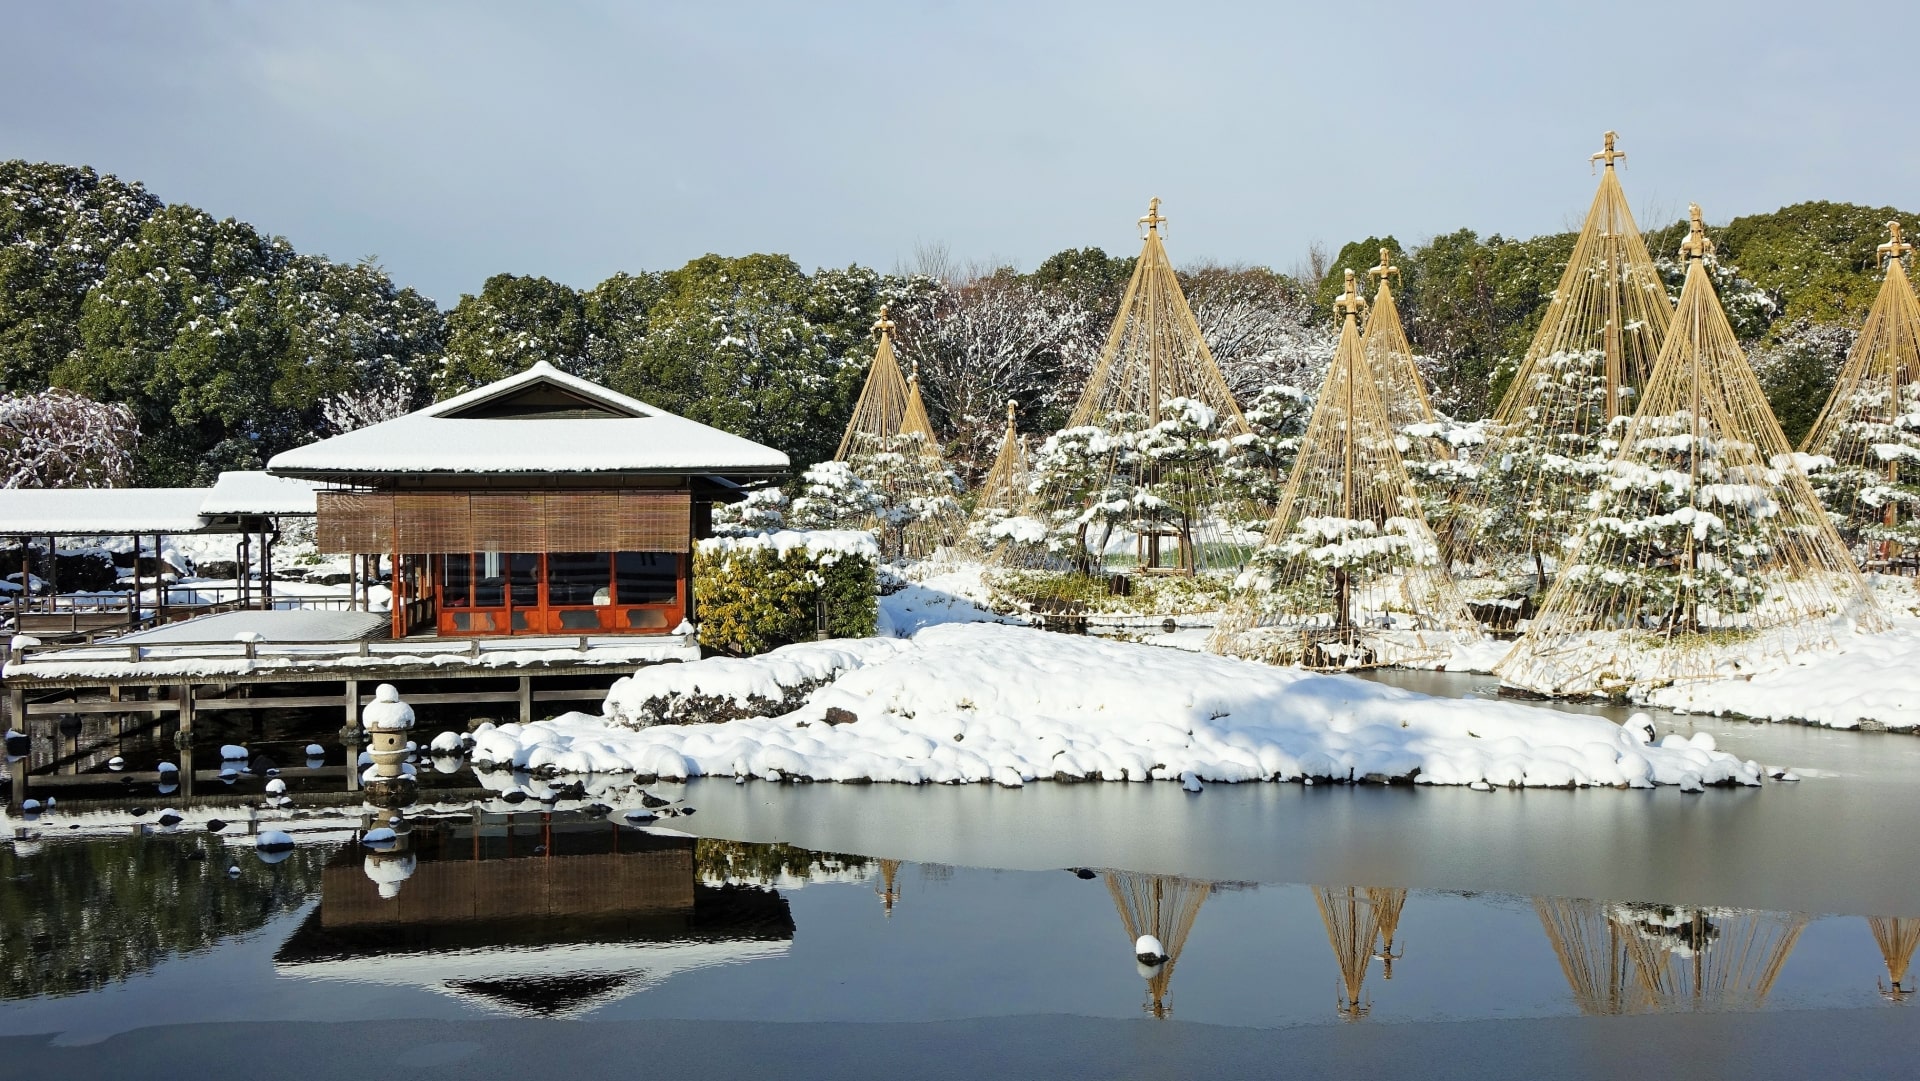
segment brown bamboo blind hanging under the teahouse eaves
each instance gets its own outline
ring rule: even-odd
[[[323,551],[687,551],[687,492],[323,492]]]

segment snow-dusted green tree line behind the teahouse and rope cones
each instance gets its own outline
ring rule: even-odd
[[[1889,219],[1914,221],[1891,207],[1799,204],[1715,230],[1728,309],[1789,438],[1812,422],[1853,344]],[[1670,255],[1680,236],[1684,223],[1663,225],[1647,244]],[[1436,407],[1475,419],[1526,349],[1572,234],[1457,230],[1413,246],[1369,236],[1288,271],[1187,267],[1194,315],[1242,401],[1273,384],[1313,390],[1332,353],[1340,271],[1363,273],[1380,248],[1402,269],[1400,305]],[[993,457],[1008,399],[1023,430],[1066,420],[1131,273],[1133,257],[1100,248],[1029,273],[964,267],[939,250],[891,273],[703,255],[584,290],[501,273],[444,311],[372,261],[305,255],[86,167],[4,161],[0,394],[61,388],[131,413],[138,440],[115,451],[131,468],[61,459],[61,476],[205,484],[543,359],[776,445],[799,474],[833,455],[872,355],[868,328],[889,305],[900,357],[972,478]],[[54,401],[73,407],[71,396]],[[88,430],[125,438],[119,417]],[[0,432],[0,455],[17,457],[10,447],[23,442],[44,445]],[[8,476],[21,482],[19,468]]]

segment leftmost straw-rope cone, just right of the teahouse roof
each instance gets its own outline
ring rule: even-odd
[[[918,372],[914,380],[900,378],[885,307],[874,332],[879,336],[874,365],[833,461],[847,463],[883,497],[885,509],[862,522],[879,538],[881,551],[893,559],[924,559],[958,541],[964,518],[920,399]]]

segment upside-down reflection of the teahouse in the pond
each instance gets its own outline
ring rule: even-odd
[[[787,901],[701,885],[693,845],[559,814],[422,824],[409,860],[374,866],[357,845],[334,856],[275,968],[568,1018],[680,972],[785,954]]]

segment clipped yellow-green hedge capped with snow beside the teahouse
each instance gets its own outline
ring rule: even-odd
[[[764,538],[701,541],[693,553],[701,645],[751,657],[812,641],[818,601],[826,601],[828,637],[872,637],[879,620],[877,557],[856,549],[776,547]]]

